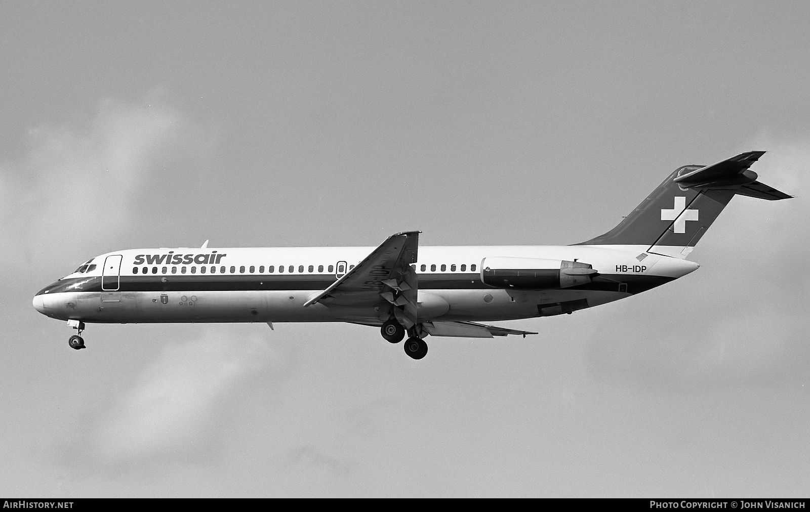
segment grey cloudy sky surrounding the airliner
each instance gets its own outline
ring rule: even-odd
[[[805,2],[6,2],[0,494],[810,494]],[[693,274],[431,339],[32,308],[138,247],[569,244],[767,150]]]

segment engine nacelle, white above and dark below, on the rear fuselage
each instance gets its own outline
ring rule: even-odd
[[[587,263],[564,259],[497,256],[481,261],[481,280],[493,288],[557,290],[590,283],[596,274]]]

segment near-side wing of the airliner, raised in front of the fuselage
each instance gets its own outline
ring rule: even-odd
[[[324,305],[377,304],[382,299],[394,306],[394,314],[410,327],[416,323],[416,262],[419,246],[418,231],[397,233],[366,256],[356,267],[319,292],[304,306],[323,302]]]

